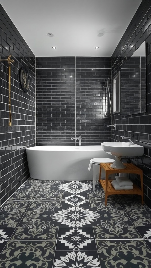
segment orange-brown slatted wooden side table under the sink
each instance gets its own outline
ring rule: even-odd
[[[99,173],[99,182],[102,185],[105,191],[105,206],[107,204],[107,196],[108,195],[123,195],[123,194],[131,194],[131,195],[141,195],[142,196],[142,204],[143,202],[143,171],[133,164],[124,164],[125,169],[114,169],[110,167],[110,163],[100,163],[100,173]],[[101,180],[101,169],[105,170],[106,179]],[[141,178],[141,189],[133,183],[132,190],[115,190],[111,184],[112,180],[108,180],[108,176],[113,173],[134,173],[139,174]]]

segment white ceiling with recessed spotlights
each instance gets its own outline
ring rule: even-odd
[[[0,0],[0,3],[36,57],[110,57],[141,1]],[[53,37],[47,33],[53,33]],[[104,35],[98,37],[98,33]],[[95,46],[99,49],[94,49]]]

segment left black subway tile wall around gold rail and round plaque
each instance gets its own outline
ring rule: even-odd
[[[0,62],[0,202],[29,177],[25,148],[35,145],[35,56],[0,5],[0,59],[12,55],[9,124],[8,63]],[[27,68],[30,89],[20,86],[19,70]]]

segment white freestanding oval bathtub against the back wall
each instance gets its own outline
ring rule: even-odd
[[[38,180],[92,180],[92,158],[112,158],[100,146],[35,146],[26,148],[30,177]]]

